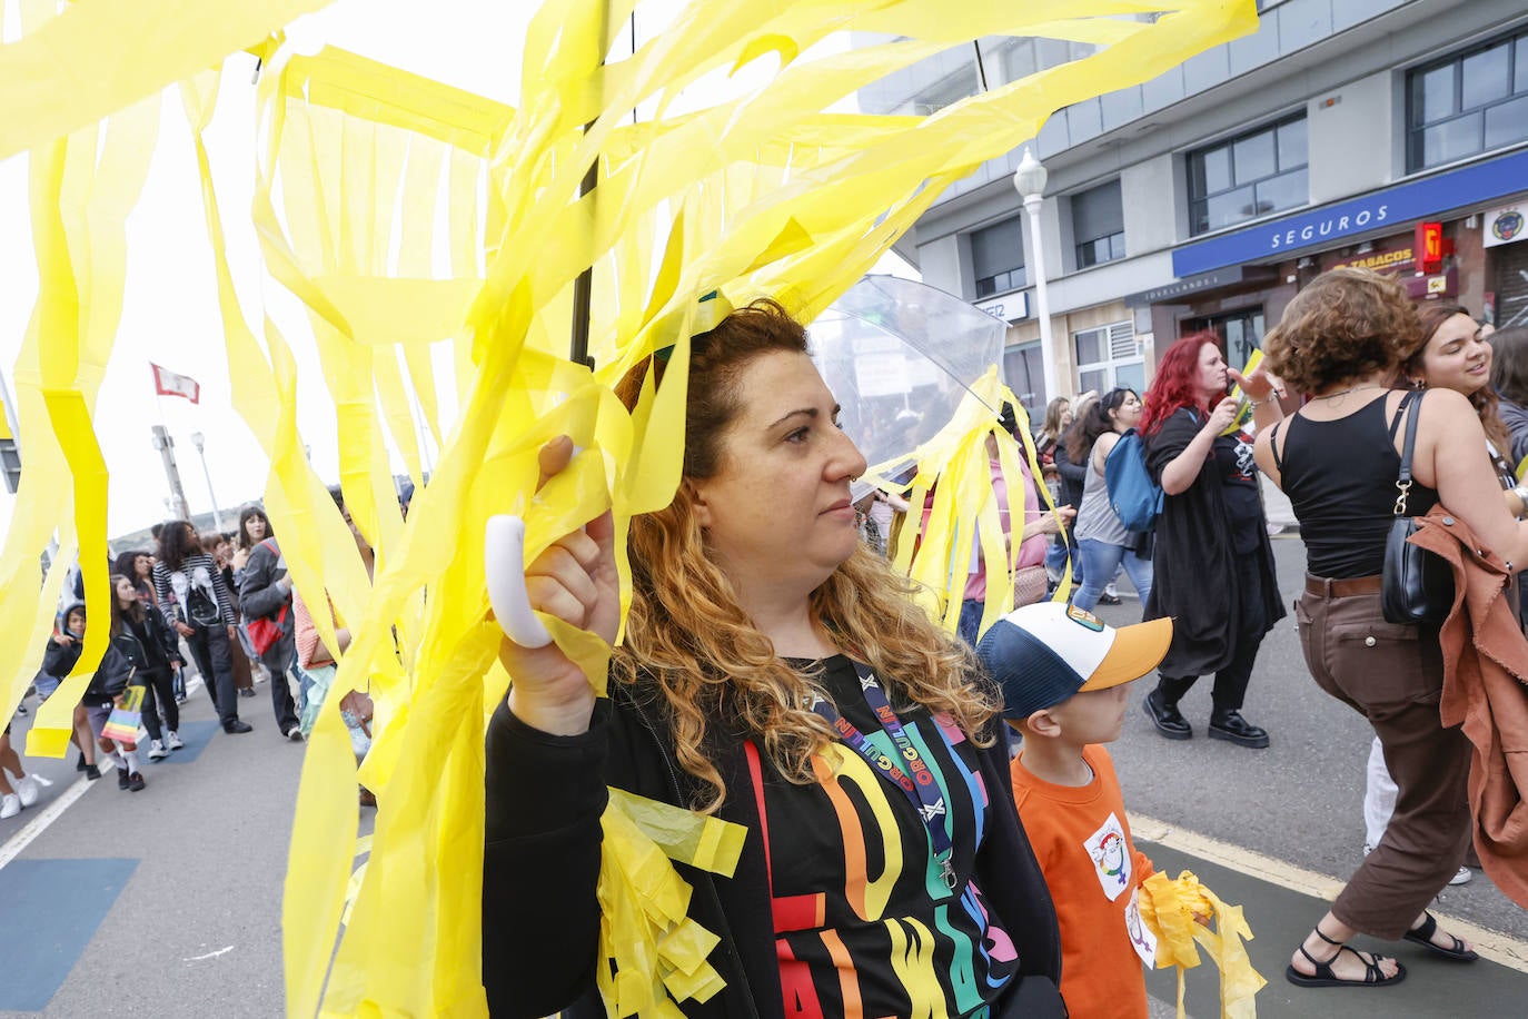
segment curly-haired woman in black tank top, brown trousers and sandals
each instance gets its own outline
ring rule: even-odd
[[[1403,357],[1424,341],[1401,284],[1366,269],[1319,277],[1265,341],[1271,368],[1309,394],[1288,423],[1261,432],[1256,448],[1259,466],[1290,497],[1306,544],[1306,585],[1296,605],[1300,643],[1316,683],[1374,724],[1398,785],[1380,845],[1290,959],[1285,976],[1299,985],[1403,979],[1395,959],[1346,947],[1360,932],[1475,959],[1468,944],[1426,912],[1470,839],[1470,744],[1439,721],[1438,629],[1389,623],[1380,611],[1403,400],[1418,425],[1407,510],[1424,513],[1441,501],[1513,562],[1528,556],[1528,529],[1504,506],[1490,461],[1459,455],[1482,449],[1485,432],[1458,390],[1445,387],[1426,400],[1390,390]],[[1476,368],[1461,365],[1458,374],[1473,377]]]

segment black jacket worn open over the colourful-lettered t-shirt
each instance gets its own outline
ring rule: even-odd
[[[552,736],[506,704],[487,730],[487,823],[483,856],[483,984],[489,1011],[503,1016],[604,1016],[599,964],[601,814],[607,784],[688,805],[691,779],[674,759],[659,707],[611,681],[590,730]],[[729,790],[752,782],[743,738],[718,736],[712,759]],[[978,857],[981,888],[1019,952],[1021,973],[1060,982],[1056,911],[1013,797],[1005,742],[981,750],[992,830]],[[782,1016],[770,889],[752,794],[733,794],[718,816],[749,830],[732,878],[675,865],[692,888],[689,915],[721,938],[709,962],[726,988],[686,1016]]]

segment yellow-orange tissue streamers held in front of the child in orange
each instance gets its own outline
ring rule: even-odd
[[[1241,906],[1221,901],[1190,871],[1183,871],[1177,880],[1152,874],[1141,883],[1138,904],[1141,920],[1157,935],[1157,969],[1178,967],[1180,1019],[1187,1016],[1183,1007],[1184,970],[1199,964],[1195,943],[1210,953],[1210,961],[1221,970],[1222,1019],[1253,1019],[1258,1014],[1254,998],[1268,981],[1251,967],[1242,944],[1251,941],[1251,927]]]

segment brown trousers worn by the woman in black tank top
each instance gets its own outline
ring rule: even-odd
[[[1386,622],[1377,593],[1334,597],[1329,588],[1306,590],[1294,610],[1311,675],[1369,720],[1398,788],[1384,837],[1348,878],[1332,914],[1395,941],[1449,883],[1470,845],[1470,741],[1438,718],[1438,631]]]

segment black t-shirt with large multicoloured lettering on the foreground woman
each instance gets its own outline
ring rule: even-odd
[[[792,662],[808,669],[810,663]],[[817,683],[839,713],[900,756],[843,655]],[[955,888],[946,886],[912,802],[843,742],[813,758],[817,781],[792,785],[749,744],[752,794],[773,892],[785,1014],[987,1016],[1018,970],[1013,941],[973,880],[990,796],[975,747],[947,717],[897,712],[943,793]]]

